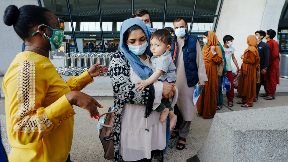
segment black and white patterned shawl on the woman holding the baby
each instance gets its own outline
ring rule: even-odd
[[[153,84],[147,86],[142,92],[136,89],[138,84],[130,81],[130,63],[125,59],[123,52],[118,51],[113,54],[109,64],[109,70],[115,103],[115,124],[113,131],[114,161],[122,162],[122,156],[119,155],[119,146],[124,104],[145,104],[146,107],[147,105],[152,106],[155,92]]]

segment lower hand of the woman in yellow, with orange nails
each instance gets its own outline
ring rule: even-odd
[[[97,110],[97,107],[103,108],[103,106],[91,96],[80,91],[70,91],[66,93],[66,98],[71,105],[76,105],[87,110],[91,118],[94,117],[96,119],[97,116],[101,116]]]

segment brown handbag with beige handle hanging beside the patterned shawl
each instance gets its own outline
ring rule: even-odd
[[[102,124],[99,120],[97,122],[102,126],[99,129],[99,138],[104,149],[104,158],[107,160],[114,160],[114,144],[113,144],[113,128],[115,122],[115,114],[113,111],[102,114],[100,118],[104,118]]]

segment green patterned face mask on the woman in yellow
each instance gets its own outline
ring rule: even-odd
[[[46,26],[45,24],[41,24]],[[45,35],[44,33],[44,37],[46,37],[49,41],[50,41],[50,45],[51,45],[51,51],[55,50],[55,49],[59,49],[61,47],[63,38],[64,38],[64,32],[61,29],[53,29],[50,28],[49,26],[46,26],[48,29],[53,30],[53,35],[51,38],[49,38],[47,35]],[[39,31],[37,30],[36,32],[34,32],[32,34],[32,36],[34,36],[36,33],[38,33]]]

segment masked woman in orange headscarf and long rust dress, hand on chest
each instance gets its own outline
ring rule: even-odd
[[[205,63],[208,82],[197,102],[197,116],[203,115],[204,119],[213,118],[216,113],[218,96],[218,71],[217,64],[223,61],[222,51],[214,32],[208,31],[203,34],[202,55]]]

